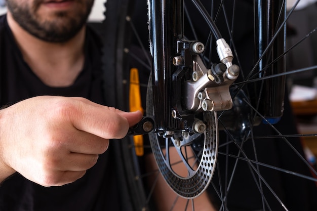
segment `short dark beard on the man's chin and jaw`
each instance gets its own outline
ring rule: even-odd
[[[74,12],[52,12],[50,18],[38,13],[43,0],[34,0],[32,5],[20,0],[8,0],[8,10],[13,19],[28,33],[50,43],[64,43],[74,37],[86,24],[94,0],[77,1],[80,7]]]

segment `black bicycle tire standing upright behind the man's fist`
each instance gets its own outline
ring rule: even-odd
[[[132,12],[131,5],[133,1],[107,1],[105,20],[102,23],[105,100],[108,106],[125,111],[129,110],[128,95],[125,93],[128,90],[128,83],[125,81],[128,78],[128,57],[123,48],[129,43],[126,16]],[[140,170],[131,141],[130,137],[125,137],[110,144],[114,156],[112,159],[117,163],[113,171],[116,171],[118,181],[113,182],[117,182],[120,189],[122,210],[144,210],[146,194],[142,181],[135,177],[140,175]]]

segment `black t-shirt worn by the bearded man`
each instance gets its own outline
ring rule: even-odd
[[[6,16],[0,17],[0,103],[14,104],[39,95],[77,96],[104,104],[101,49],[97,35],[87,28],[85,64],[73,85],[46,86],[23,60]],[[21,140],[23,141],[23,140]],[[61,187],[42,187],[16,173],[0,186],[0,211],[119,210],[111,147],[86,175]]]

